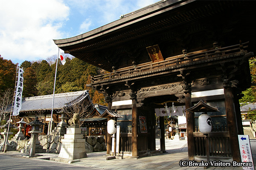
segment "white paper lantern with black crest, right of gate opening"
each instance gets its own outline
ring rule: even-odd
[[[207,114],[201,114],[198,117],[198,125],[201,133],[210,133],[212,131],[212,118]]]

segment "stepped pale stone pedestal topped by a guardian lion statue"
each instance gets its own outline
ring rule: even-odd
[[[73,163],[87,158],[85,139],[83,139],[81,128],[78,125],[79,119],[79,115],[75,113],[73,118],[68,121],[70,126],[67,128],[67,134],[64,134],[64,139],[61,139],[61,151],[58,158],[50,160]]]

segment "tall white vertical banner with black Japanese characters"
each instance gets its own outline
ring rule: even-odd
[[[18,68],[18,78],[17,78],[17,86],[15,91],[15,98],[14,98],[14,108],[13,108],[13,116],[19,115],[21,109],[21,102],[22,102],[22,91],[23,91],[23,69]]]

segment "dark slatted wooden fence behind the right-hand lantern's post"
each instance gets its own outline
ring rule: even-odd
[[[193,133],[195,139],[195,156],[206,156],[206,140],[205,135],[195,128]],[[214,157],[230,158],[231,147],[227,126],[217,126],[212,128],[209,133],[209,153]]]

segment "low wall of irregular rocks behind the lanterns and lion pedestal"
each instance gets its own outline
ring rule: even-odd
[[[53,136],[53,135],[41,135],[38,136],[40,144],[43,146],[43,149],[46,149],[47,153],[60,153],[61,150],[61,139],[63,136]],[[87,153],[90,152],[101,152],[106,151],[105,140],[103,136],[85,136],[84,143],[85,150]],[[22,141],[9,141],[12,144],[14,150],[24,149],[29,140]]]

